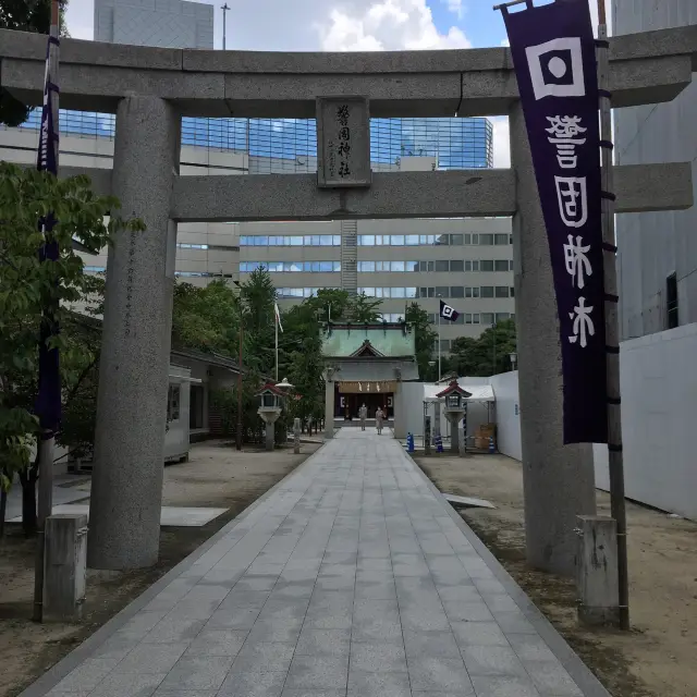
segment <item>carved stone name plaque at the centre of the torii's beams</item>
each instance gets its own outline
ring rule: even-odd
[[[365,97],[317,99],[317,185],[370,186],[370,111]]]

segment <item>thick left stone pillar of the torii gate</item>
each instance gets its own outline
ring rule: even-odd
[[[158,97],[117,111],[113,193],[145,232],[109,249],[87,563],[149,566],[158,559],[176,228],[170,221],[181,119]]]

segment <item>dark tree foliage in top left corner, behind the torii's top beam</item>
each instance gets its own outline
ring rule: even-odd
[[[61,36],[70,36],[65,27],[68,0],[59,0]],[[48,34],[51,28],[51,0],[0,0],[0,29]],[[29,115],[32,107],[15,99],[0,87],[0,123],[19,126]]]

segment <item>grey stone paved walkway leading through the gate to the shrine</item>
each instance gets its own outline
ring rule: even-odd
[[[25,692],[45,694],[607,695],[403,448],[357,429]]]

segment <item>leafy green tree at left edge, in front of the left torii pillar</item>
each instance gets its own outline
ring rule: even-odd
[[[7,492],[19,474],[23,488],[24,522],[35,528],[37,463],[29,450],[38,430],[33,414],[38,379],[38,346],[42,310],[56,306],[60,326],[69,321],[70,306],[94,290],[73,237],[89,248],[101,248],[122,228],[140,230],[138,221],[123,222],[119,201],[95,196],[89,180],[58,180],[46,172],[0,162],[0,488]],[[52,237],[56,261],[39,262],[44,236],[39,219],[56,216]],[[106,217],[111,213],[109,223]],[[66,332],[50,340],[61,355],[65,393],[91,356]]]

